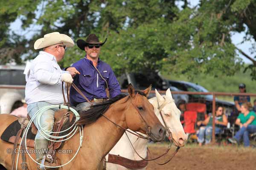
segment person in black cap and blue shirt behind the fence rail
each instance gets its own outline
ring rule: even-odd
[[[246,93],[246,86],[244,83],[239,85],[239,93]],[[250,102],[250,96],[234,96],[234,102],[237,111],[241,112],[241,105]]]

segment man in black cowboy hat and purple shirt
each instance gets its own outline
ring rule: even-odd
[[[99,59],[101,46],[95,34],[90,34],[87,39],[77,40],[77,46],[86,52],[83,59],[74,63],[67,71],[76,73],[74,84],[91,102],[104,102],[108,99],[106,88],[110,96],[115,97],[121,93],[119,82],[116,79],[111,67]],[[70,102],[78,111],[86,109],[89,103],[73,88],[70,88]]]

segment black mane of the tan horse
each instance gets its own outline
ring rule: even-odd
[[[145,96],[145,94],[141,91],[135,91],[135,94],[137,93],[142,96]],[[96,120],[99,119],[99,117],[101,117],[106,111],[108,111],[110,105],[125,97],[125,94],[119,94],[106,102],[102,102],[91,106],[90,109],[87,111],[79,112],[80,119],[77,122],[77,124],[90,125],[91,123],[96,122]]]

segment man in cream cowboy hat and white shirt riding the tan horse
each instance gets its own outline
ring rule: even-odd
[[[74,45],[73,40],[58,32],[52,32],[44,35],[44,38],[36,40],[35,49],[43,48],[39,55],[28,65],[26,65],[24,74],[26,74],[25,99],[28,104],[28,115],[32,118],[35,113],[48,105],[58,105],[64,103],[61,82],[72,83],[73,72],[62,71],[57,62],[63,59],[65,49]],[[55,109],[45,111],[41,116],[41,127],[44,130],[52,131],[54,124]],[[34,123],[36,123],[36,118]],[[48,147],[48,140],[38,133],[35,136],[35,149],[44,150]],[[46,153],[37,152],[36,161],[41,160]],[[57,163],[45,162],[47,166],[56,166]],[[47,170],[56,170],[57,168],[45,167]]]

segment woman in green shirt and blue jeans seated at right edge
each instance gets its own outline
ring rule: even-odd
[[[244,147],[250,146],[249,133],[256,132],[256,114],[254,111],[249,111],[247,103],[241,105],[241,113],[236,119],[236,125],[240,126],[234,138],[228,139],[233,144],[239,144],[243,138]]]

